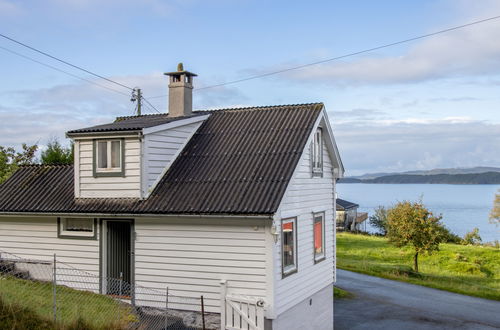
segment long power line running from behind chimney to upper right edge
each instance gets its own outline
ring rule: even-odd
[[[263,74],[249,76],[249,77],[245,77],[245,78],[241,78],[241,79],[237,79],[237,80],[228,81],[228,82],[225,82],[225,83],[220,83],[220,84],[215,84],[215,85],[209,85],[209,86],[205,86],[205,87],[195,88],[195,90],[204,90],[204,89],[209,89],[209,88],[222,87],[222,86],[226,86],[226,85],[233,85],[233,84],[237,84],[237,83],[248,81],[248,80],[254,80],[254,79],[264,78],[264,77],[268,77],[268,76],[272,76],[272,75],[276,75],[276,74],[280,74],[280,73],[284,73],[284,72],[289,72],[289,71],[293,71],[293,70],[299,70],[299,69],[307,68],[307,67],[318,65],[318,64],[323,64],[323,63],[327,63],[327,62],[332,62],[332,61],[340,60],[340,59],[343,59],[343,58],[346,58],[346,57],[360,55],[360,54],[372,52],[372,51],[375,51],[375,50],[379,50],[379,49],[383,49],[383,48],[388,48],[388,47],[392,47],[392,46],[396,46],[396,45],[401,45],[401,44],[404,44],[404,43],[408,43],[408,42],[411,42],[411,41],[415,41],[415,40],[419,40],[419,39],[424,39],[424,38],[432,37],[432,36],[435,36],[435,35],[438,35],[438,34],[443,34],[443,33],[446,33],[446,32],[450,32],[450,31],[462,29],[462,28],[469,27],[469,26],[472,26],[472,25],[481,24],[481,23],[492,21],[492,20],[496,20],[496,19],[499,19],[499,18],[500,18],[500,15],[499,16],[493,16],[493,17],[482,19],[482,20],[479,20],[479,21],[474,21],[474,22],[471,22],[471,23],[454,26],[454,27],[451,27],[451,28],[447,28],[447,29],[444,29],[444,30],[439,30],[439,31],[436,31],[436,32],[432,32],[432,33],[420,35],[420,36],[413,37],[413,38],[408,38],[408,39],[404,39],[404,40],[400,40],[400,41],[396,41],[396,42],[391,42],[389,44],[385,44],[385,45],[381,45],[381,46],[377,46],[377,47],[372,47],[372,48],[360,50],[360,51],[357,51],[357,52],[352,52],[352,53],[348,53],[348,54],[344,54],[344,55],[340,55],[340,56],[336,56],[336,57],[326,58],[326,59],[323,59],[323,60],[320,60],[320,61],[311,62],[311,63],[307,63],[307,64],[302,64],[302,65],[298,65],[298,66],[294,66],[294,67],[290,67],[290,68],[286,68],[286,69],[282,69],[282,70],[276,70],[276,71],[271,71],[271,72],[267,72],[267,73],[263,73]],[[167,96],[167,95],[152,96],[152,97],[150,97],[150,99],[159,98],[159,97],[165,97],[165,96]]]

